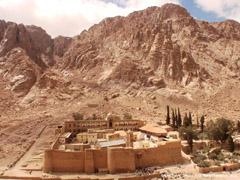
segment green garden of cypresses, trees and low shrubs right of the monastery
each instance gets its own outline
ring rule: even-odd
[[[199,118],[197,116],[196,123],[193,124],[192,113],[185,113],[183,120],[180,109],[171,109],[167,106],[166,124],[171,125],[179,132],[182,139],[186,140],[190,151],[193,155],[193,161],[199,167],[209,167],[212,164],[220,165],[223,161],[237,162],[239,161],[239,154],[234,152],[235,146],[232,135],[235,132],[240,132],[240,122],[234,126],[234,122],[229,119],[219,118],[216,121],[205,121],[205,116]],[[213,140],[217,146],[213,149],[205,147],[201,153],[193,152],[194,140]],[[229,153],[223,153],[223,147]],[[234,152],[234,153],[232,153]],[[208,160],[206,160],[208,159]]]

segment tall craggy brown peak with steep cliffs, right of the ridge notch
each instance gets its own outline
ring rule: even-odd
[[[62,68],[79,69],[88,80],[100,82],[126,81],[130,75],[128,83],[134,77],[145,85],[148,78],[157,78],[204,86],[203,81],[239,76],[238,29],[234,21],[195,20],[180,6],[152,7],[105,19],[73,38]],[[130,65],[123,69],[126,61]],[[92,79],[96,70],[100,76]]]

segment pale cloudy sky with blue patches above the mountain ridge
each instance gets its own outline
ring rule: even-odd
[[[73,37],[106,17],[166,3],[183,6],[199,20],[240,22],[240,0],[0,0],[0,19],[40,26],[52,37]]]

